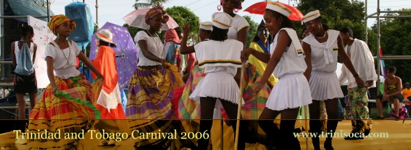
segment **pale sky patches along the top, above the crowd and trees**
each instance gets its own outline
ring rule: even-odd
[[[64,14],[64,6],[73,2],[73,0],[50,1],[52,2],[51,10],[54,14]],[[253,3],[258,3],[260,1],[262,0],[245,0],[245,2],[242,3],[242,10],[245,10],[245,8],[249,7]],[[96,0],[85,0],[85,2],[89,5],[93,20],[95,22]],[[99,26],[103,26],[106,22],[114,23],[116,25],[123,25],[125,22],[122,18],[134,10],[134,7],[132,7],[134,2],[135,0],[98,0]],[[290,5],[297,5],[296,0],[280,0],[280,2],[290,3]],[[203,22],[210,21],[212,13],[218,11],[216,7],[219,5],[219,0],[170,0],[164,5],[164,7],[173,7],[175,5],[188,7],[192,12],[199,16],[200,21]],[[399,10],[403,7],[410,8],[411,0],[380,0],[380,7],[381,10],[386,10],[387,8],[391,8],[391,10]],[[262,15],[249,14],[248,12],[243,12],[242,10],[240,10],[237,14],[241,16],[250,16],[256,23],[260,23],[262,20]],[[367,10],[367,14],[377,12],[377,0],[368,0]],[[303,14],[304,13],[307,12],[303,12]],[[376,23],[375,18],[369,18],[367,21],[368,27],[371,27],[374,23]]]

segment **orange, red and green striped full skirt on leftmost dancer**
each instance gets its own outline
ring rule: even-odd
[[[103,80],[97,79],[90,84],[84,76],[69,79],[54,77],[58,90],[52,91],[51,85],[29,116],[29,133],[60,132],[60,139],[29,139],[30,149],[70,149],[75,147],[76,139],[64,138],[64,133],[84,133],[92,126],[93,120],[100,119],[95,102],[101,91]]]

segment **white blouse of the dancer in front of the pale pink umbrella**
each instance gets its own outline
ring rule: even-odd
[[[160,57],[161,59],[166,59],[166,55],[164,55],[164,45],[160,40],[160,37],[151,37],[145,31],[138,31],[136,37],[134,37],[134,42],[136,42],[137,47],[137,66],[161,65],[161,63],[151,61],[142,54],[141,48],[138,45],[138,41],[140,40],[145,40],[147,42],[147,50],[153,53],[153,55]]]

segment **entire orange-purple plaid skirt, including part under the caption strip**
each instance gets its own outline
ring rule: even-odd
[[[129,84],[126,108],[128,125],[134,136],[138,133],[173,132],[178,126],[171,108],[173,89],[181,87],[182,76],[173,65],[168,68],[137,67]],[[161,120],[163,119],[163,120]],[[167,149],[174,140],[150,138],[136,140],[138,149]]]

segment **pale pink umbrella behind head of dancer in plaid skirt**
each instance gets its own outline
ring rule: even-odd
[[[130,12],[129,14],[125,15],[123,20],[127,25],[132,26],[132,27],[138,27],[140,29],[147,29],[147,23],[145,23],[145,14],[150,10],[150,8],[142,8],[138,10],[134,10],[133,12]],[[166,14],[166,16],[169,16],[169,14]],[[176,27],[179,27],[175,20],[169,16],[169,21],[167,23],[164,23],[161,27],[162,31],[166,31],[168,29],[174,29]]]

